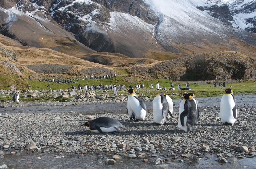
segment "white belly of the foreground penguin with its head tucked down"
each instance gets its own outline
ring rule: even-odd
[[[161,125],[165,123],[163,118],[163,105],[160,95],[156,96],[153,100],[153,119],[154,123],[158,123]]]

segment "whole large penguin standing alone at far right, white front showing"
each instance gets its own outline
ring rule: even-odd
[[[237,118],[236,99],[233,90],[224,89],[226,94],[222,96],[220,101],[220,118],[221,123],[234,124]]]

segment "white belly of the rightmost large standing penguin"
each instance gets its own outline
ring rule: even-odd
[[[225,94],[222,96],[220,101],[220,118],[221,123],[234,124],[236,119],[233,116],[233,108],[235,107],[235,102],[231,94]],[[237,110],[236,110],[237,116]]]

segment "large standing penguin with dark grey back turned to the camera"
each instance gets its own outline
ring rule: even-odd
[[[184,99],[180,103],[178,127],[185,132],[195,132],[194,127],[199,120],[198,102],[193,93],[182,94]]]

